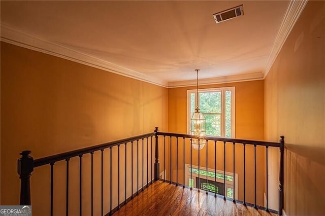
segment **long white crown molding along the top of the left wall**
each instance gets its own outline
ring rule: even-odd
[[[122,75],[124,77],[141,80],[166,88],[168,87],[168,83],[165,81],[161,81],[154,77],[141,74],[135,70],[118,66],[101,58],[87,55],[61,44],[47,41],[35,35],[18,31],[3,23],[1,24],[1,41],[106,70],[114,74]]]

